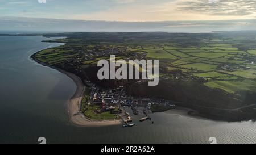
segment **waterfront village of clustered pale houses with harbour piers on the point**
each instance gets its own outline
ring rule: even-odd
[[[93,85],[86,104],[87,106],[98,106],[92,111],[94,114],[108,112],[109,114],[118,115],[123,120],[123,127],[134,126],[135,124],[131,123],[133,122],[131,115],[138,115],[140,112],[144,115],[139,119],[140,122],[150,120],[154,124],[154,121],[149,116],[154,106],[162,105],[175,108],[175,104],[170,100],[131,97],[125,93],[123,86],[119,86],[116,89],[101,89]],[[130,108],[133,114],[127,112],[127,108]],[[85,108],[84,111],[86,110],[89,110],[89,108]]]

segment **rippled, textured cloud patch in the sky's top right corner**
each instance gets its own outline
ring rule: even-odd
[[[255,15],[256,1],[251,0],[188,0],[180,2],[180,10],[222,16]]]

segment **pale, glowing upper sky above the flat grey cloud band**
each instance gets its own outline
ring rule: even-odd
[[[0,16],[123,22],[255,19],[254,0],[0,0]]]

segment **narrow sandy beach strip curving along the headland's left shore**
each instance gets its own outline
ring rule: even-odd
[[[38,51],[40,52],[40,51]],[[36,53],[38,53],[36,52]],[[31,59],[37,62],[38,64],[41,64],[43,66],[48,66],[49,68],[56,69],[59,72],[65,74],[69,78],[72,79],[73,82],[76,84],[76,92],[75,94],[69,99],[68,101],[68,114],[69,114],[69,120],[80,127],[103,127],[103,126],[110,126],[110,125],[119,125],[122,123],[122,120],[102,120],[102,121],[97,121],[97,120],[90,120],[86,118],[84,114],[80,112],[80,106],[81,106],[81,101],[82,97],[84,94],[84,91],[86,89],[84,83],[82,82],[81,78],[77,77],[75,74],[67,72],[63,69],[56,68],[55,66],[48,65],[44,62],[39,61],[34,53],[31,56]]]

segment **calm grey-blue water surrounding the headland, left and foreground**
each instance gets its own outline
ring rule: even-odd
[[[67,101],[75,83],[67,76],[30,60],[57,43],[41,36],[0,37],[0,143],[255,143],[256,123],[214,122],[189,118],[183,111],[151,114],[155,124],[139,123],[100,128],[69,123]],[[135,116],[138,119],[140,116]]]

